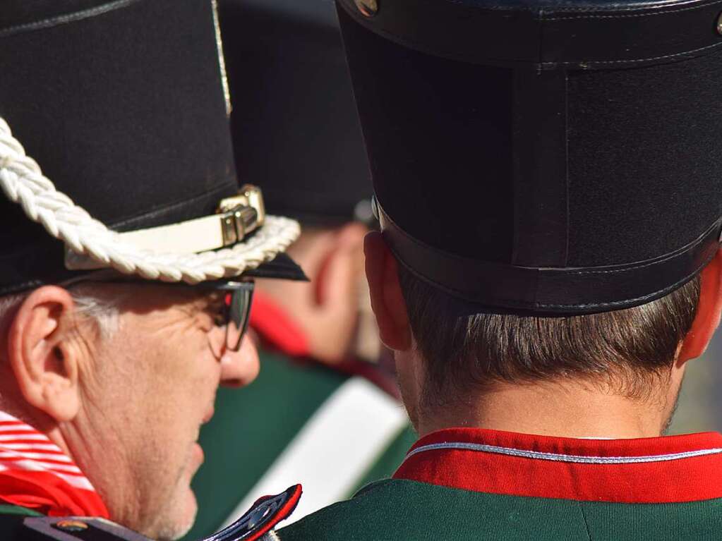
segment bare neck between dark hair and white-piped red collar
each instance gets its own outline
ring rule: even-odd
[[[455,426],[569,438],[660,436],[674,411],[678,386],[639,400],[575,380],[494,384],[453,404],[419,410],[419,436]]]

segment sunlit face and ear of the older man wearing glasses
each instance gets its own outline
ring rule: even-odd
[[[78,317],[68,291],[35,290],[6,324],[1,406],[66,451],[111,519],[157,539],[183,535],[196,514],[196,443],[219,384],[258,374],[248,338],[225,351],[214,303],[193,289],[103,284],[121,299],[103,339]]]

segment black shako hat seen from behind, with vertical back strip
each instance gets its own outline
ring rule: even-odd
[[[633,307],[719,247],[719,1],[338,0],[383,234],[490,312]]]

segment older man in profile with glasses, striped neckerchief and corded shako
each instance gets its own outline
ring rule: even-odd
[[[253,277],[304,278],[280,255],[297,222],[239,190],[215,20],[210,0],[0,3],[4,541],[181,537],[217,387],[258,373]]]

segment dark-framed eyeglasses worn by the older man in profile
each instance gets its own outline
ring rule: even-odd
[[[151,285],[176,286],[206,291],[222,291],[223,296],[223,324],[225,327],[225,349],[226,351],[239,351],[243,342],[243,335],[248,330],[248,322],[251,320],[251,305],[253,304],[253,291],[256,284],[253,281],[231,281],[218,280],[207,281],[190,285],[188,283],[153,282],[143,278],[132,276],[118,276],[114,271],[97,271],[77,278],[71,278],[58,286],[70,287],[82,282],[96,283],[144,283]]]

